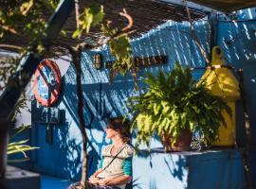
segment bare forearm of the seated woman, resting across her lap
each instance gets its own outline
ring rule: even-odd
[[[125,183],[129,183],[131,182],[132,177],[129,175],[123,175],[123,176],[119,176],[117,178],[113,178],[113,179],[102,179],[99,180],[99,184],[100,185],[120,185],[120,184],[125,184]]]

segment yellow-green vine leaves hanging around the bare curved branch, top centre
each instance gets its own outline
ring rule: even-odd
[[[120,72],[125,75],[131,68],[131,44],[127,34],[117,35],[118,28],[112,28],[110,23],[103,23],[104,18],[103,6],[92,4],[84,9],[80,16],[79,28],[73,33],[72,37],[77,38],[82,35],[82,32],[88,33],[91,26],[101,25],[101,31],[107,37],[107,42],[110,47],[111,54],[116,58],[113,66],[112,73]],[[116,37],[113,37],[116,36]]]

